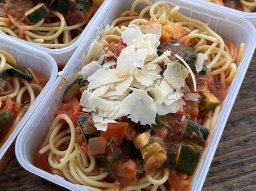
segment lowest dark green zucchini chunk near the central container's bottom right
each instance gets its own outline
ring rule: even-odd
[[[192,145],[180,145],[176,155],[175,169],[192,176],[199,163],[202,148]]]

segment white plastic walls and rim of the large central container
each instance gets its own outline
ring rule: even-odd
[[[241,61],[237,76],[230,87],[229,94],[223,104],[216,127],[209,139],[208,147],[201,158],[199,168],[197,169],[196,175],[191,184],[191,190],[199,191],[204,184],[214,152],[216,151],[218,142],[220,141],[222,131],[225,128],[229,113],[240,89],[251,57],[253,56],[256,46],[256,32],[254,26],[247,22],[247,20],[230,16],[220,11],[214,11],[213,9],[205,8],[202,10],[201,6],[198,6],[198,3],[188,2],[185,0],[172,0],[167,2],[170,4],[170,7],[179,5],[180,12],[184,15],[208,23],[210,28],[225,39],[233,41],[237,45],[241,43],[245,44],[245,55]],[[94,38],[99,35],[100,30],[105,28],[107,24],[121,13],[121,11],[129,9],[131,3],[132,1],[111,1],[104,7],[104,10],[102,10],[102,15],[97,15],[95,19],[96,23],[94,24],[95,26],[100,26],[100,28],[90,28],[89,33],[85,36],[81,45],[77,48],[76,52],[64,68],[63,75],[60,75],[57,78],[55,84],[51,88],[51,91],[49,91],[49,94],[43,100],[43,103],[48,104],[40,105],[40,108],[38,108],[38,110],[33,114],[26,127],[20,132],[15,145],[16,157],[19,163],[28,171],[67,189],[84,190],[80,185],[72,184],[60,176],[52,175],[51,173],[35,167],[32,162],[33,155],[40,144],[40,139],[43,139],[43,135],[46,134],[51,122],[53,121],[53,112],[60,104],[65,88],[68,84],[73,82],[73,75],[77,71],[81,70],[82,54],[86,53]],[[234,32],[226,32],[227,28]],[[63,83],[64,81],[66,83]]]

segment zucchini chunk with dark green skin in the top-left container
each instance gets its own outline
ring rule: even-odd
[[[49,15],[49,10],[44,3],[39,3],[32,9],[25,12],[25,16],[30,24],[35,24]]]

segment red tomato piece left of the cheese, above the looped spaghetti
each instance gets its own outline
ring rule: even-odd
[[[54,112],[54,117],[56,117],[58,114],[67,114],[69,118],[71,118],[73,124],[76,126],[76,116],[79,116],[82,114],[82,106],[79,103],[79,100],[77,100],[76,97],[74,97],[71,100],[64,101],[63,103],[60,104],[59,108],[56,109]],[[64,122],[65,121],[61,121]]]

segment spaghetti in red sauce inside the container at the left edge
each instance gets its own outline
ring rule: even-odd
[[[39,75],[35,75],[30,69],[19,67],[15,58],[4,50],[0,50],[0,60],[1,147],[42,91],[46,79],[38,78]],[[31,75],[32,79],[27,79],[24,75]]]

